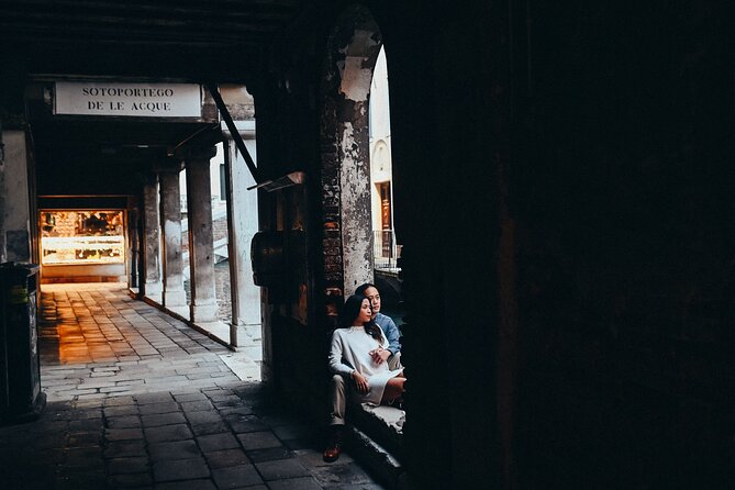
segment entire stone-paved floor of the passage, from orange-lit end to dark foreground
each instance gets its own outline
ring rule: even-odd
[[[48,403],[0,427],[2,489],[380,489],[225,347],[121,286],[44,286]]]

